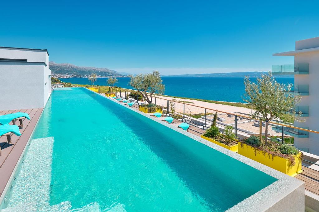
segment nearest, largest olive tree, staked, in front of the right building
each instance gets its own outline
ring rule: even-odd
[[[296,116],[295,106],[300,102],[301,97],[287,94],[292,84],[286,86],[278,83],[271,72],[262,74],[256,82],[251,82],[249,76],[245,76],[244,84],[246,93],[243,100],[254,108],[251,112],[253,119],[262,119],[266,122],[265,144],[268,145],[268,122],[276,120],[287,123],[289,120],[298,120],[301,111],[298,111]]]

